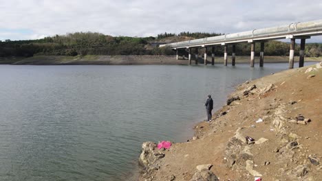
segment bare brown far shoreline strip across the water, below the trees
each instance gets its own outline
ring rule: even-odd
[[[215,64],[223,63],[222,56],[215,57]],[[305,58],[305,61],[320,62],[319,58]],[[294,62],[298,62],[299,57],[294,58]],[[231,62],[231,57],[228,56],[228,64]],[[249,63],[249,56],[236,56],[236,63]],[[255,63],[259,62],[259,57],[255,57]],[[288,56],[264,56],[265,63],[282,63],[288,62]],[[198,64],[203,64],[204,59],[198,59]],[[175,59],[175,56],[33,56],[30,58],[24,57],[0,57],[0,64],[34,64],[34,65],[129,65],[129,64],[188,64],[188,60]],[[191,61],[195,64],[195,60]],[[208,64],[211,64],[211,56],[208,56]]]

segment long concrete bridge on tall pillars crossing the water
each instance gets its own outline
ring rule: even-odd
[[[237,43],[250,43],[250,67],[254,67],[255,58],[255,43],[260,43],[261,50],[259,56],[259,67],[264,66],[264,43],[268,40],[290,39],[290,59],[289,69],[294,67],[294,46],[295,39],[301,39],[301,50],[299,52],[299,67],[304,65],[304,49],[305,39],[311,36],[322,35],[322,20],[309,21],[303,23],[290,23],[289,25],[282,25],[279,27],[268,27],[263,29],[253,29],[248,32],[239,32],[235,34],[225,34],[222,36],[212,36],[208,38],[200,38],[195,40],[187,40],[177,43],[169,43],[160,45],[160,47],[169,47],[177,51],[178,49],[188,49],[189,64],[191,64],[192,49],[195,49],[195,64],[198,59],[198,49],[204,49],[204,64],[207,64],[207,52],[211,48],[211,64],[215,64],[215,47],[214,45],[224,46],[224,65],[227,66],[227,49],[228,45],[232,46],[232,65],[235,66],[235,51]]]

